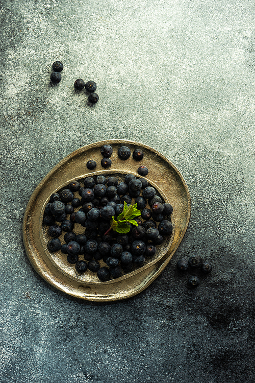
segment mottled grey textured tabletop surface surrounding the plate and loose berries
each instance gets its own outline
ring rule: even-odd
[[[254,11],[248,0],[2,2],[1,383],[254,382]],[[79,77],[98,84],[95,106],[74,92]],[[54,165],[108,138],[169,158],[192,215],[147,290],[97,304],[36,274],[21,224]],[[214,268],[194,291],[175,268],[192,250]]]

